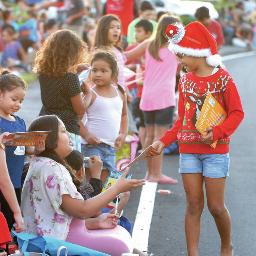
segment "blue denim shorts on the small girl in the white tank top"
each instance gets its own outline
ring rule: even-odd
[[[100,143],[98,145],[81,144],[82,153],[84,156],[100,156],[102,160],[102,170],[116,170],[116,148]],[[89,168],[87,161],[84,161],[84,166]]]

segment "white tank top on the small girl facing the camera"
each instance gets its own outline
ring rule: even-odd
[[[113,147],[119,134],[123,109],[123,101],[117,88],[114,88],[117,94],[114,98],[102,97],[91,89],[96,94],[96,99],[87,109],[87,119],[84,123],[88,132],[99,138],[100,142]],[[88,144],[82,137],[81,143]]]

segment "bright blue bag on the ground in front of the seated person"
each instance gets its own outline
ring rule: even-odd
[[[60,246],[65,246],[68,249],[68,256],[110,256],[103,252],[97,252],[95,250],[91,250],[83,246],[72,244],[56,238],[47,236],[35,236],[33,234],[24,232],[16,233],[15,231],[12,231],[12,234],[17,236],[18,244],[22,252],[40,252],[42,253],[42,256],[45,256],[45,254],[56,256],[58,248]],[[64,256],[64,254],[65,251],[62,250],[60,252],[60,256]]]

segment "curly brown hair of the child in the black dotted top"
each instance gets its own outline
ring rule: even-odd
[[[63,29],[51,34],[36,53],[33,70],[62,78],[76,73],[76,66],[85,61],[87,45],[75,32]]]

